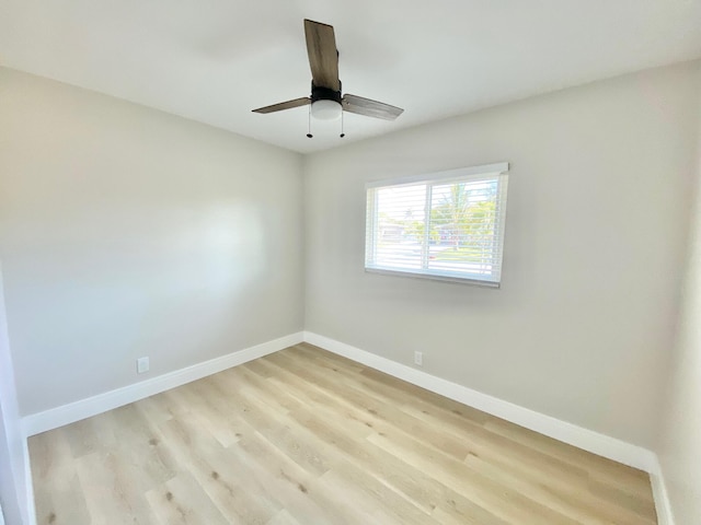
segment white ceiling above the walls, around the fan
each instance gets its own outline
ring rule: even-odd
[[[304,18],[398,120],[251,113],[309,94]],[[0,65],[299,152],[699,57],[701,0],[0,0]]]

